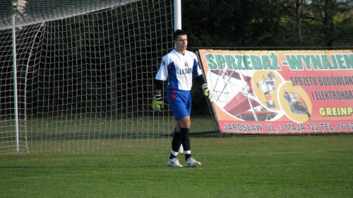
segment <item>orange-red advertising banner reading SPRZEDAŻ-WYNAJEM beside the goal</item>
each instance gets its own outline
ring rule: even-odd
[[[353,132],[353,50],[198,52],[221,132]]]

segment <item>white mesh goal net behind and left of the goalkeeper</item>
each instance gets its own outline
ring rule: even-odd
[[[169,148],[172,114],[150,104],[173,48],[172,0],[13,0],[0,9],[0,154]]]

